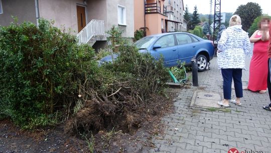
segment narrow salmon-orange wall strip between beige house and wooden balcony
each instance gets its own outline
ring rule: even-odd
[[[144,0],[134,0],[134,31],[144,28]]]

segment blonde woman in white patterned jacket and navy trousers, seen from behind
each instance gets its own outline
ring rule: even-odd
[[[217,61],[223,77],[224,100],[218,105],[229,107],[231,99],[231,83],[234,82],[236,99],[230,102],[241,105],[242,91],[242,69],[245,68],[245,54],[250,51],[250,41],[247,33],[242,30],[241,19],[238,15],[230,18],[229,26],[222,32],[218,41]]]

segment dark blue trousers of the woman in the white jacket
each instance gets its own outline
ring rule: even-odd
[[[222,68],[223,94],[224,99],[231,99],[231,83],[234,82],[235,95],[237,98],[243,97],[242,89],[242,69],[241,68]]]

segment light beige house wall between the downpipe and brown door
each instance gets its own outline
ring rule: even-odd
[[[54,20],[54,26],[66,29],[71,28],[73,34],[78,33],[76,5],[84,6],[83,0],[40,0],[40,17]],[[88,21],[86,21],[88,23]]]

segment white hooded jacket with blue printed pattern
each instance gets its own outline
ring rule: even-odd
[[[245,69],[245,54],[249,54],[250,41],[241,25],[228,27],[218,41],[218,68]]]

